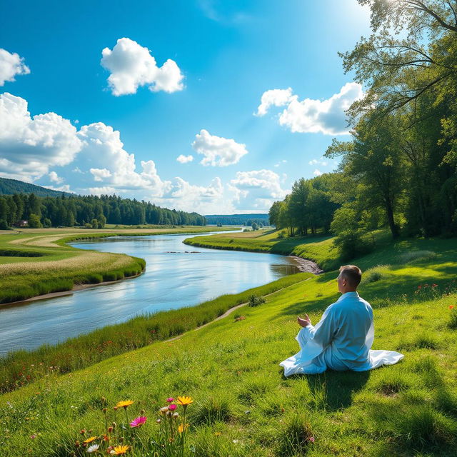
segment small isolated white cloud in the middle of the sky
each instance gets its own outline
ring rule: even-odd
[[[211,135],[209,131],[201,129],[196,134],[192,147],[199,154],[204,155],[202,165],[228,166],[237,164],[245,154],[248,154],[246,144],[236,143],[233,139]]]

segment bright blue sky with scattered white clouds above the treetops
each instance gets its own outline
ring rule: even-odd
[[[350,138],[343,109],[363,96],[337,55],[370,33],[356,0],[22,1],[0,14],[0,176],[54,189],[266,212],[334,169],[321,156]]]

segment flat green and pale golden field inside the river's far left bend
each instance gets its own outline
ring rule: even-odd
[[[156,229],[21,229],[0,235],[0,303],[45,293],[69,291],[76,284],[101,283],[135,276],[144,270],[141,258],[83,251],[69,241],[103,236],[201,233],[226,230],[184,226]]]

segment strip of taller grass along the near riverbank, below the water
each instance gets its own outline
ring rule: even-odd
[[[249,296],[264,296],[306,281],[312,273],[296,273],[236,294],[225,294],[196,306],[137,316],[34,351],[14,351],[0,357],[0,393],[25,386],[52,371],[69,373],[106,358],[181,335],[213,321]]]

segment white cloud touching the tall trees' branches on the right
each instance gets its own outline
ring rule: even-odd
[[[280,90],[280,89],[275,89]],[[267,102],[273,99],[274,103],[263,103],[258,107],[262,111],[268,109],[271,105],[286,106],[279,116],[279,124],[286,126],[292,132],[301,133],[318,133],[324,135],[346,135],[349,134],[345,111],[353,104],[354,101],[363,98],[361,84],[347,83],[338,94],[334,94],[326,100],[304,99],[298,101],[298,96],[291,95],[288,99],[286,94],[281,96],[270,96],[267,94]],[[262,101],[263,101],[262,96]],[[264,113],[263,113],[264,114]]]

